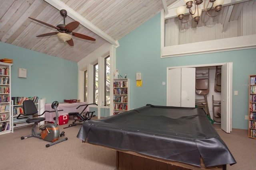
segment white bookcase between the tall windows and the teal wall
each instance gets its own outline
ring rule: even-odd
[[[130,110],[130,80],[119,78],[113,80],[113,114]]]

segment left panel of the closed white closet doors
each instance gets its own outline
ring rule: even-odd
[[[168,106],[180,107],[181,100],[181,68],[169,69],[168,72]]]

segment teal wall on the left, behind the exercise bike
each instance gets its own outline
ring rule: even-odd
[[[38,96],[46,103],[78,98],[76,62],[0,42],[3,58],[13,59],[12,96]],[[27,69],[27,78],[18,77],[18,68]]]

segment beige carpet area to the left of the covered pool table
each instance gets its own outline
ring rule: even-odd
[[[70,122],[71,123],[71,122]],[[76,137],[80,126],[63,129],[67,141],[46,148],[48,141],[21,136],[31,133],[32,126],[0,135],[1,170],[114,170],[116,151],[82,143]]]

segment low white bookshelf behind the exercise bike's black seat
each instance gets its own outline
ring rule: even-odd
[[[12,97],[12,99],[18,98],[18,97]],[[38,108],[39,112],[39,99],[37,96],[34,97],[20,97],[21,99],[24,98],[24,100],[31,100],[31,98],[34,98],[34,102],[36,107]],[[24,101],[23,100],[23,101]],[[21,102],[23,103],[23,102]],[[22,104],[17,104],[12,100],[12,122],[13,122],[13,129],[18,128],[18,127],[24,127],[28,125],[33,125],[34,123],[26,123],[26,118],[24,119],[17,119],[18,115],[23,111],[23,105]],[[22,118],[22,116],[20,116]]]

